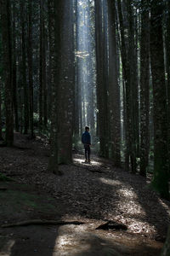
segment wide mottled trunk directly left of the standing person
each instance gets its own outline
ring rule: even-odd
[[[74,111],[74,30],[72,1],[64,5],[62,26],[61,72],[59,80],[59,164],[72,162],[72,121]]]

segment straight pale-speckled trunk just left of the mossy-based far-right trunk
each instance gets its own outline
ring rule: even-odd
[[[140,41],[140,175],[149,164],[150,134],[150,13],[148,0],[142,0]]]

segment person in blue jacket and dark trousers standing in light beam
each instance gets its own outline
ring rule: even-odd
[[[91,146],[91,136],[89,133],[89,127],[85,127],[85,131],[82,133],[82,143],[85,149],[85,162],[90,164],[90,146]]]

